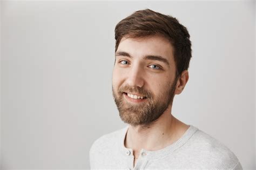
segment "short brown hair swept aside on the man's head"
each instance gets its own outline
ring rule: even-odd
[[[123,37],[140,38],[161,35],[169,39],[174,48],[176,76],[188,69],[191,55],[190,35],[178,19],[150,9],[139,10],[120,21],[114,30],[116,50]]]

